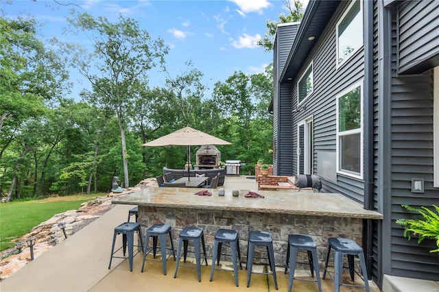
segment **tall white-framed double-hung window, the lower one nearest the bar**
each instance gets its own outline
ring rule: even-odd
[[[363,176],[361,84],[337,96],[337,172]]]

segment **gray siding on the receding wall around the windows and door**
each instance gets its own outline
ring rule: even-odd
[[[291,102],[295,108],[298,106],[297,82],[310,62],[313,62],[314,91],[303,104],[300,104],[300,106],[305,106],[306,110],[293,114],[292,142],[296,150],[298,147],[297,125],[312,115],[313,172],[320,175],[324,191],[343,193],[358,202],[363,202],[364,182],[346,175],[337,175],[335,169],[336,96],[346,88],[364,80],[364,49],[357,51],[355,56],[339,69],[335,65],[335,25],[348,5],[348,1],[342,1],[292,82]],[[296,151],[293,154],[292,171],[293,174],[300,173]]]

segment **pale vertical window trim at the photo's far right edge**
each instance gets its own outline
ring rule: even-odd
[[[433,186],[439,188],[439,66],[433,69]]]

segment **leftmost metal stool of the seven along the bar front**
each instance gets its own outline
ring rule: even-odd
[[[137,232],[139,234],[139,240],[141,244],[140,246],[143,250],[143,242],[142,242],[139,223],[125,222],[125,223],[121,223],[121,225],[115,228],[115,233],[112,237],[111,256],[110,256],[110,264],[108,265],[108,269],[110,269],[111,267],[112,258],[126,258],[125,257],[126,247],[128,245],[128,260],[130,262],[130,271],[132,271],[132,258],[134,258],[134,256],[139,254],[139,251],[137,251],[136,254],[134,254],[134,232]],[[115,251],[116,236],[118,234],[122,234],[122,246]],[[136,246],[139,247],[139,245]],[[123,248],[123,256],[115,256],[115,253],[121,250],[122,248]]]

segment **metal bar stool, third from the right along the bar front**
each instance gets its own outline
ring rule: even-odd
[[[270,269],[272,270],[272,275],[274,278],[274,286],[276,290],[277,287],[277,279],[276,279],[276,267],[274,266],[274,250],[273,250],[273,240],[270,232],[263,231],[250,231],[248,232],[248,249],[247,249],[247,287],[250,286],[250,278],[252,278],[252,266],[253,266],[253,258],[254,258],[254,248],[256,246],[265,246],[267,247],[268,253],[268,263],[270,264]],[[270,273],[263,273],[270,274]]]

